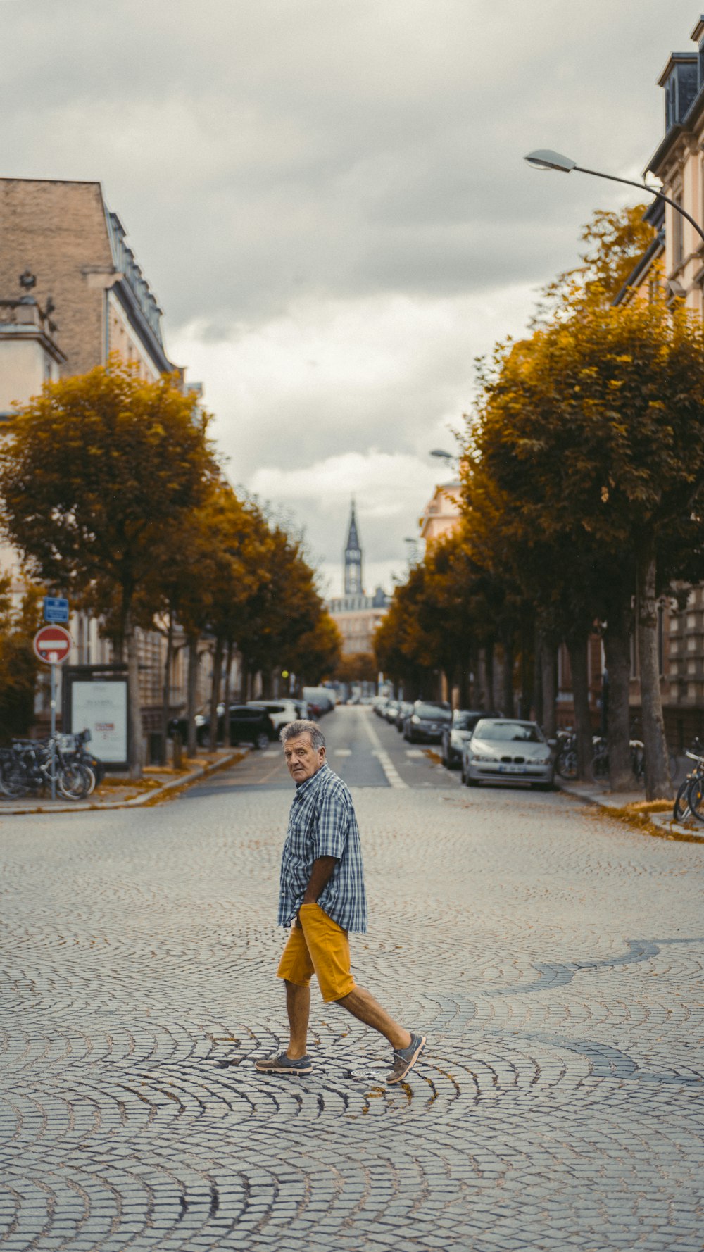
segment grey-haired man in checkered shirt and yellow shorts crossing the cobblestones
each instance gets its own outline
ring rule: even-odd
[[[309,1074],[307,1053],[311,977],[323,1000],[343,1008],[388,1039],[390,1083],[416,1064],[425,1035],[403,1029],[349,972],[347,933],[367,929],[367,900],[360,830],[352,796],[326,761],[326,741],[313,721],[293,721],[281,732],[288,772],[296,782],[281,863],[279,925],[291,926],[278,967],[286,984],[289,1040],[286,1052],[256,1062],[266,1074]]]

